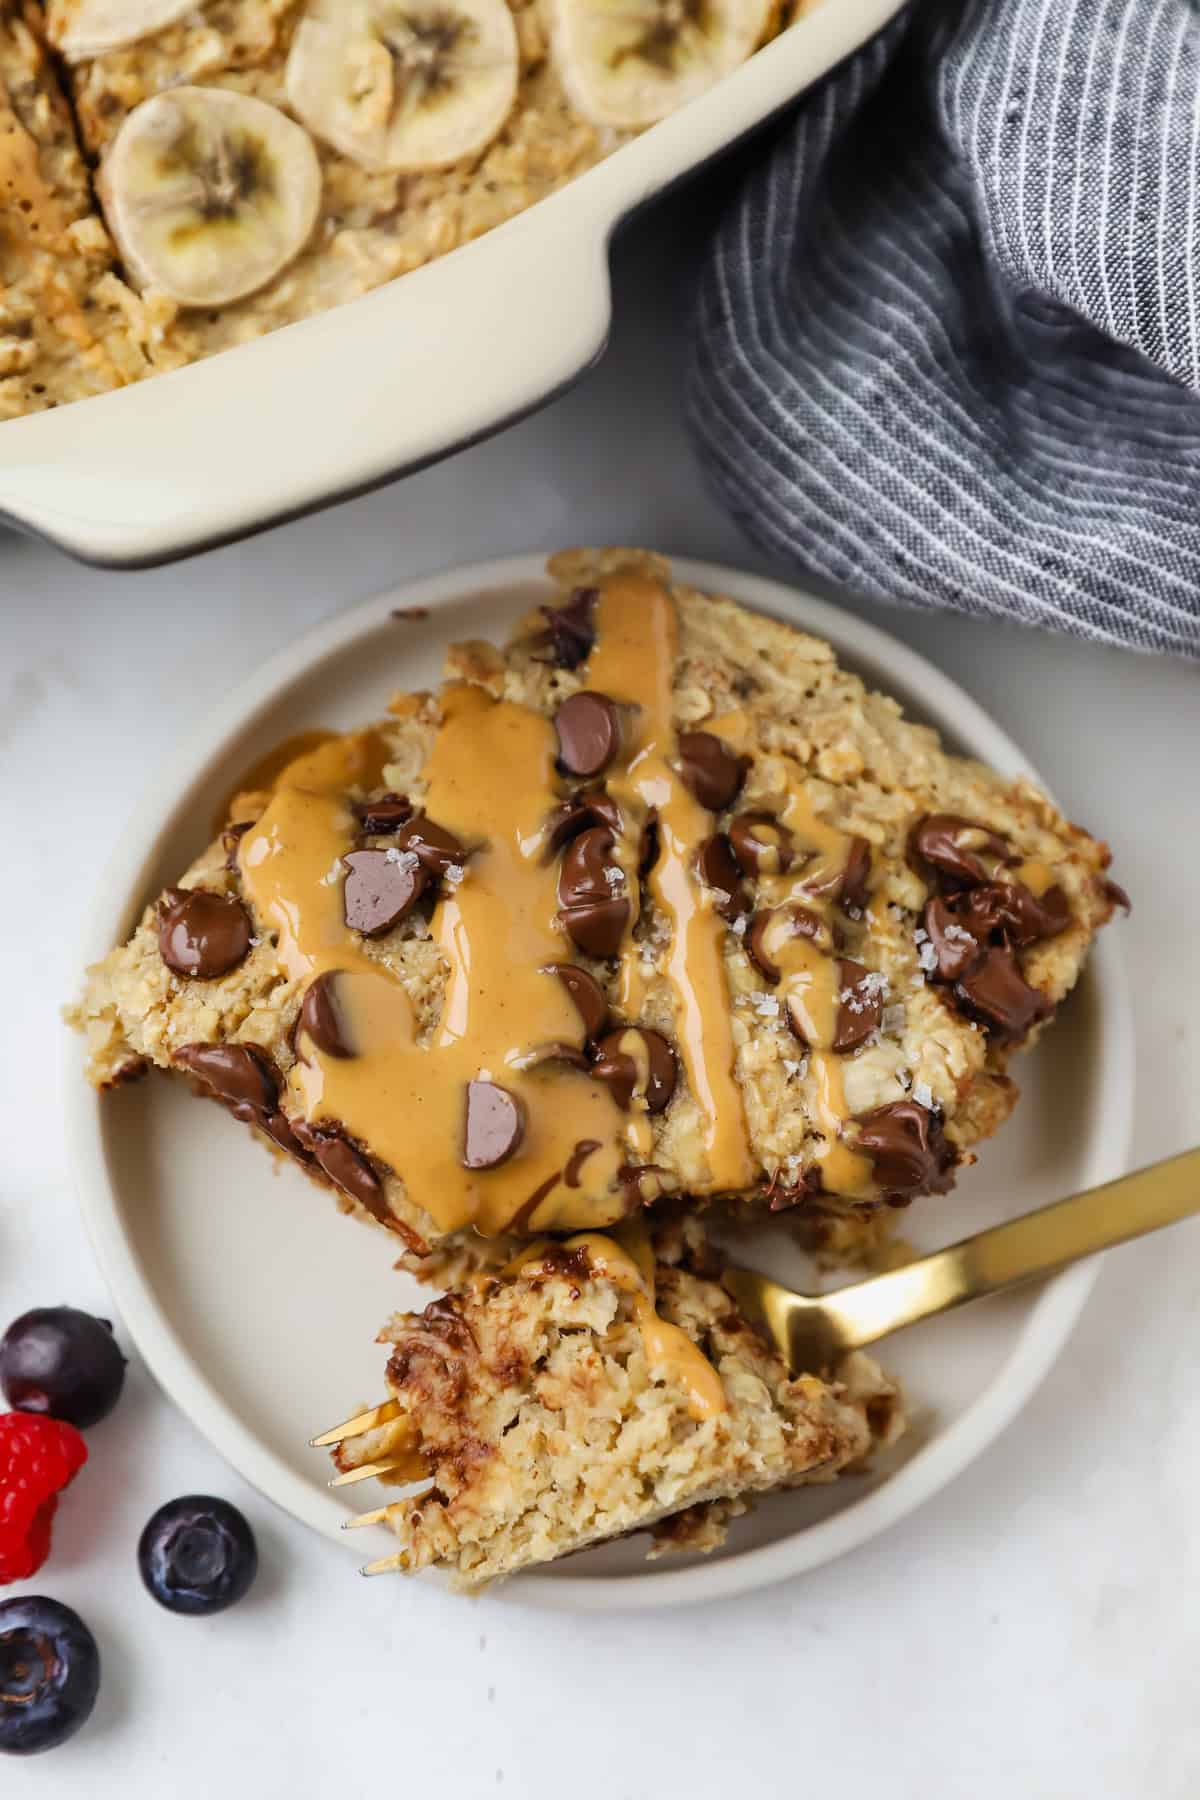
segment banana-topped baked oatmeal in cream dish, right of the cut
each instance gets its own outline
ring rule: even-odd
[[[479,238],[792,16],[779,0],[45,0],[95,176],[94,203],[56,101],[81,293],[122,335],[112,376],[63,376],[58,400],[257,338]],[[38,54],[27,38],[18,63]],[[38,259],[14,202],[9,184],[22,274]],[[104,284],[108,232],[121,279]],[[25,401],[7,414],[40,403],[34,383]]]

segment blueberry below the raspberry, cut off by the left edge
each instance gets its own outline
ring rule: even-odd
[[[101,1652],[77,1613],[23,1593],[0,1600],[0,1750],[54,1750],[95,1706]]]

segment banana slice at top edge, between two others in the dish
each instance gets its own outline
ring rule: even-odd
[[[288,101],[363,169],[444,169],[484,149],[516,99],[506,0],[313,0]]]

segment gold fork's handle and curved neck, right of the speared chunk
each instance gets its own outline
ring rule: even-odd
[[[1200,1213],[1200,1150],[1040,1206],[831,1294],[797,1294],[752,1269],[727,1269],[723,1282],[747,1318],[766,1328],[793,1375],[817,1373],[905,1325],[1054,1274],[1189,1213]]]

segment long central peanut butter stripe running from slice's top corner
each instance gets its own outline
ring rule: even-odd
[[[640,826],[653,808],[658,819],[658,860],[648,887],[671,927],[667,979],[675,997],[675,1035],[693,1098],[703,1112],[709,1190],[745,1188],[756,1168],[747,1141],[741,1093],[734,1080],[734,1039],[725,983],[725,925],[702,900],[693,875],[694,855],[712,832],[712,814],[696,801],[669,758],[675,754],[671,679],[678,621],[658,581],[617,576],[596,608],[596,646],[588,686],[631,711],[621,765],[606,776],[621,803],[637,851]],[[622,1010],[633,1013],[644,995],[637,945],[626,938],[621,968]]]

